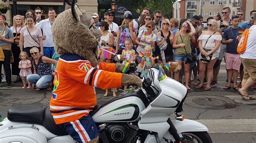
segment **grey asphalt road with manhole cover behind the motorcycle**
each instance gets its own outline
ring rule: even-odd
[[[256,142],[256,100],[245,101],[234,89],[222,89],[226,84],[226,73],[223,65],[221,69],[217,87],[210,91],[194,88],[189,91],[184,104],[184,116],[206,125],[213,142]],[[49,104],[51,91],[22,89],[21,83],[13,85],[10,89],[0,87],[0,113],[3,117],[6,117],[12,105]],[[112,98],[103,97],[104,92],[97,89],[98,104],[104,104]],[[250,90],[251,95],[255,93],[256,89]]]

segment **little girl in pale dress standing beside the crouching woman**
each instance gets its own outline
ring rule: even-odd
[[[31,62],[30,60],[28,60],[29,56],[28,54],[26,54],[26,52],[21,52],[21,54],[19,54],[19,59],[21,59],[21,61],[19,61],[19,68],[21,69],[21,71],[19,72],[19,75],[22,77],[22,82],[23,82],[23,89],[26,88],[26,77],[30,74],[32,74],[31,71]],[[31,83],[28,82],[28,88],[31,88]]]

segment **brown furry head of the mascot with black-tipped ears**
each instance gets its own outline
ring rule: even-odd
[[[60,13],[52,25],[55,51],[77,54],[90,61],[93,67],[98,64],[99,47],[97,39],[102,32],[95,27],[93,20],[75,4],[64,1],[65,11]],[[65,20],[63,20],[65,19]]]

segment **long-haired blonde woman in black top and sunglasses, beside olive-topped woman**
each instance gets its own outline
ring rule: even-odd
[[[173,61],[173,52],[172,52],[172,42],[173,42],[173,33],[171,32],[170,27],[170,21],[168,19],[164,19],[161,24],[161,31],[157,33],[157,45],[160,48],[160,54],[158,53],[157,56],[159,56],[158,63],[162,63],[163,61],[165,63]],[[163,39],[163,40],[160,40]],[[162,47],[161,45],[164,44],[164,41],[167,42],[167,45],[165,47]],[[164,49],[163,49],[164,48]],[[161,53],[163,51],[164,53]],[[162,57],[164,55],[164,57]]]

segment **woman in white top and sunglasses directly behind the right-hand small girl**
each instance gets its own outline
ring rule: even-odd
[[[147,22],[146,24],[147,30],[143,30],[139,32],[138,38],[136,39],[136,44],[138,45],[136,52],[137,55],[140,54],[140,52],[144,53],[144,48],[146,46],[150,46],[152,49],[152,52],[155,52],[155,46],[156,46],[156,40],[157,36],[153,33],[154,28],[156,28],[156,24],[152,21]],[[155,55],[156,56],[156,55]],[[138,63],[140,63],[141,59],[137,58]]]

